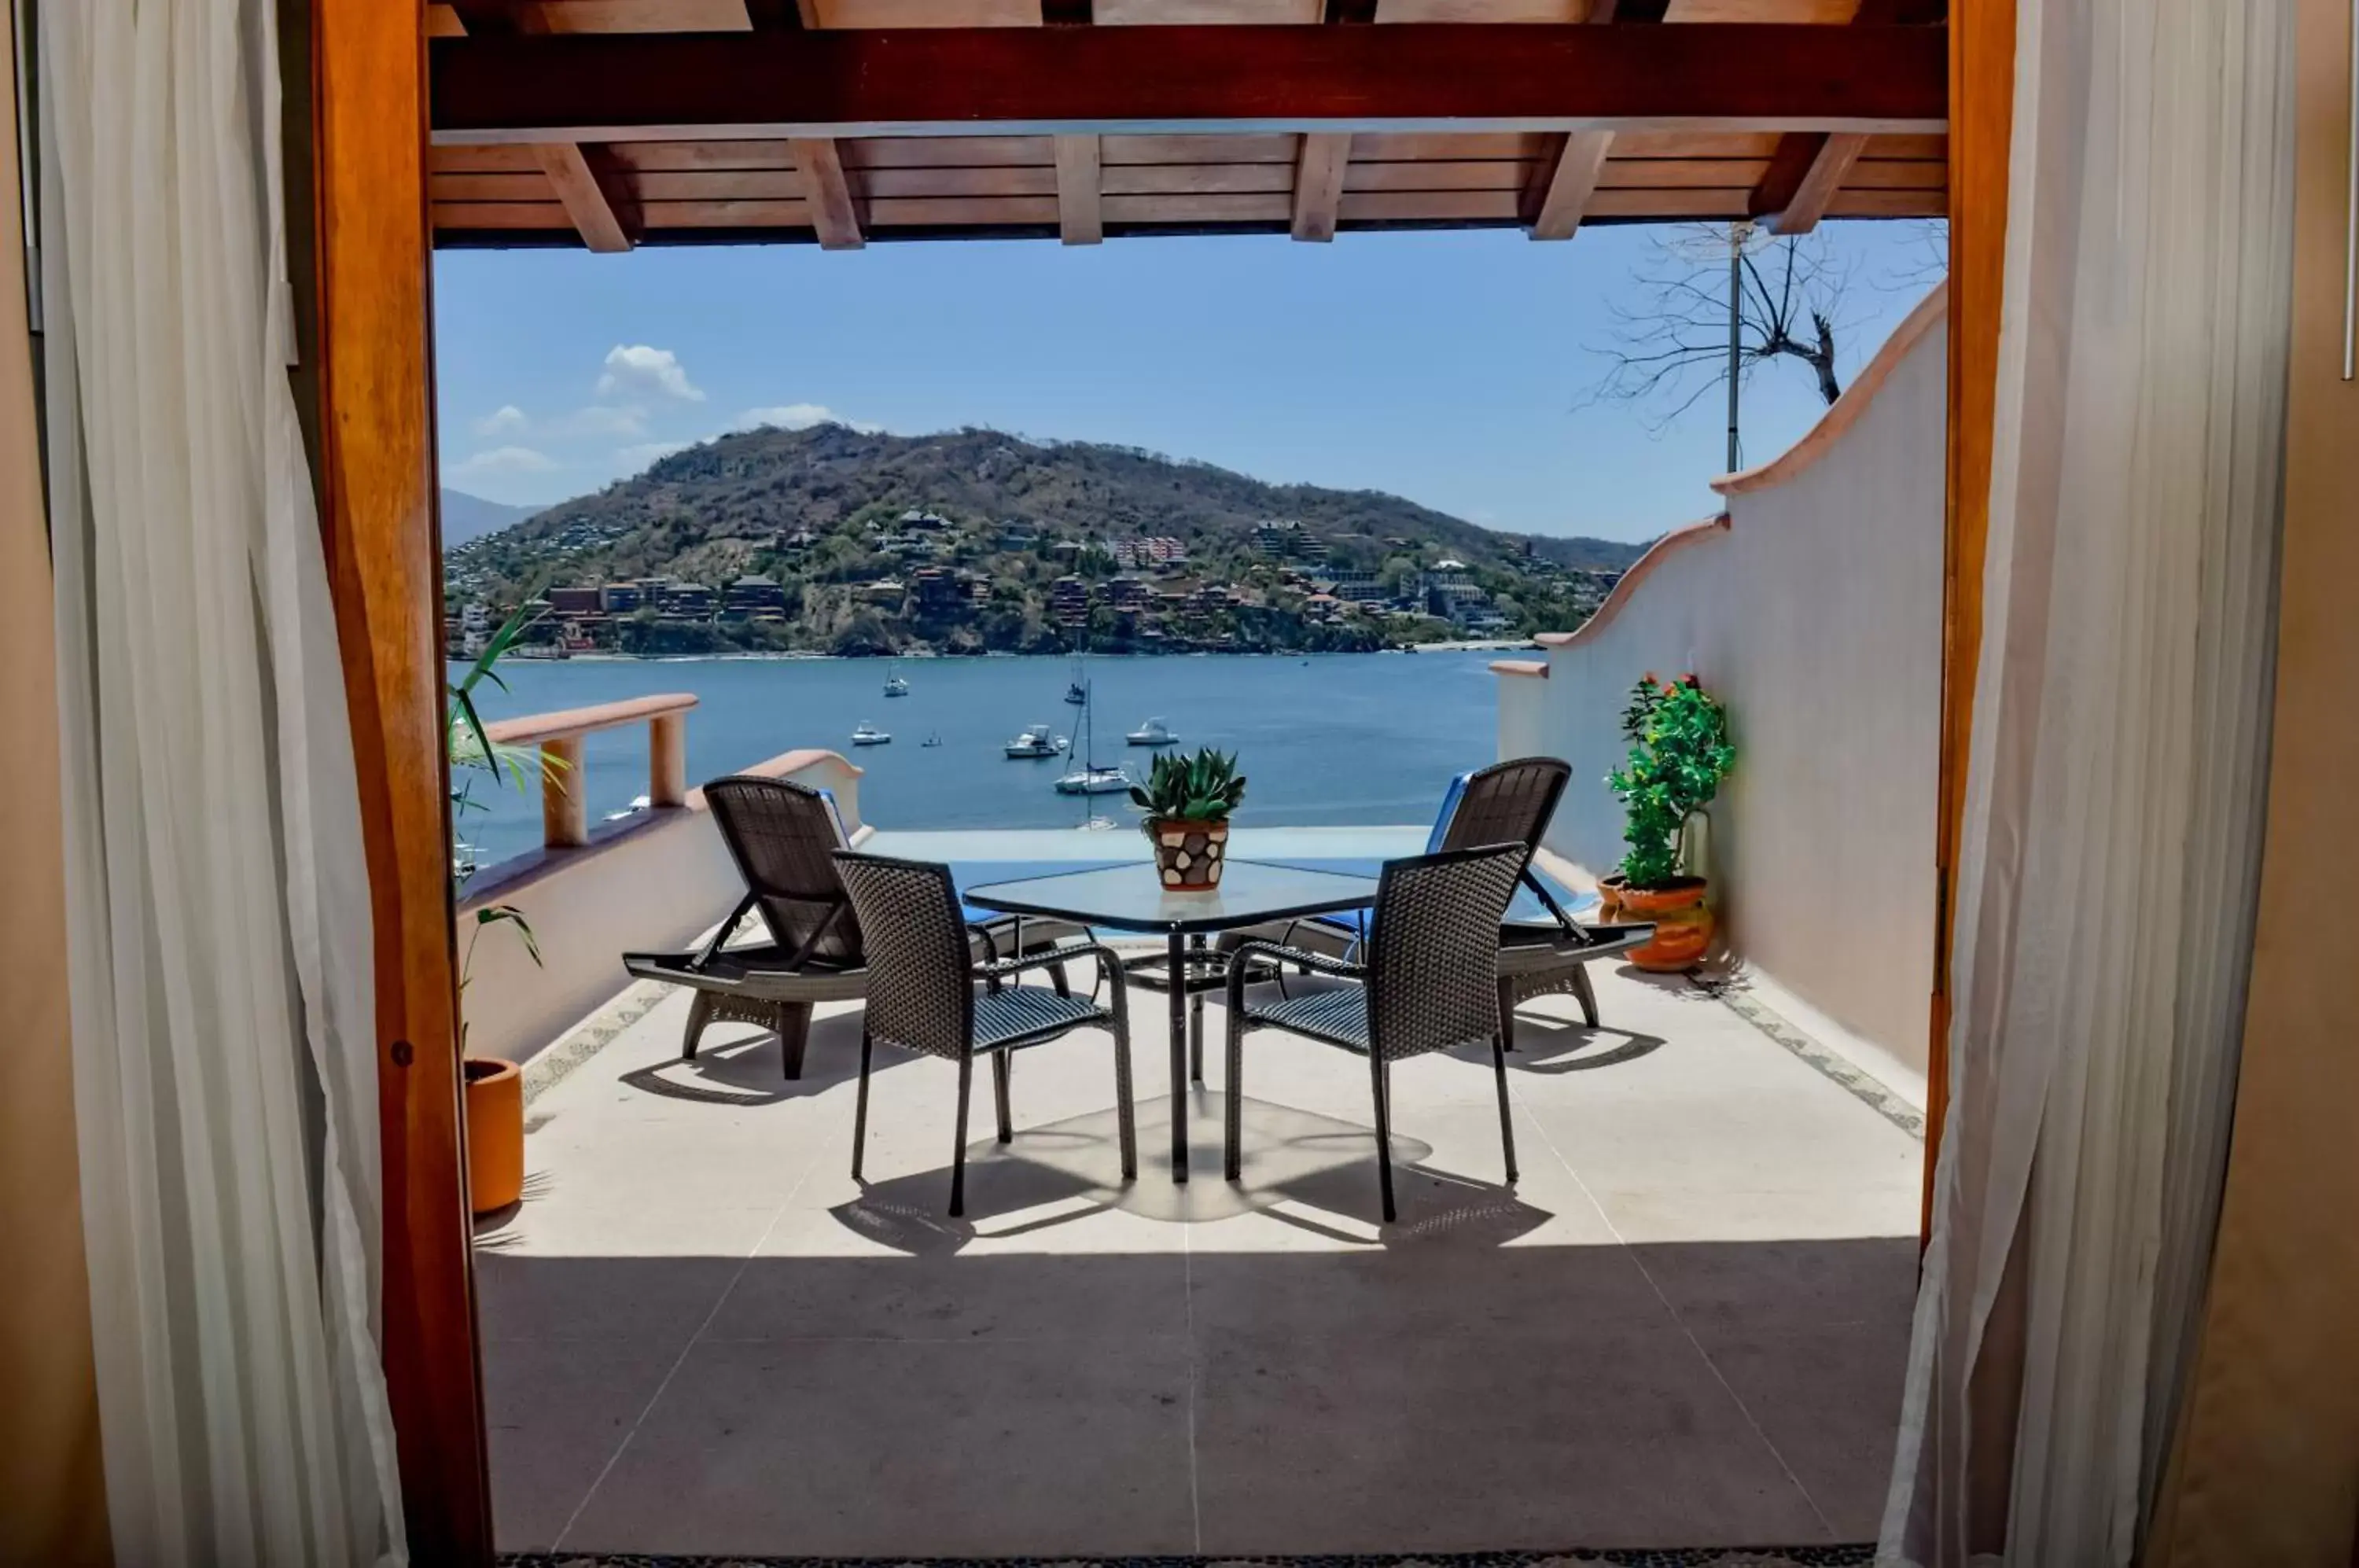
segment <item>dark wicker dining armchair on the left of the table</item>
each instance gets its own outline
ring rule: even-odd
[[[1121,1132],[1123,1181],[1139,1174],[1139,1134],[1130,1103],[1130,1002],[1123,964],[1099,943],[1064,946],[1054,955],[974,960],[958,889],[948,865],[889,861],[835,851],[835,868],[859,915],[868,943],[868,1009],[861,1016],[861,1089],[852,1113],[852,1179],[861,1179],[868,1144],[868,1073],[875,1045],[899,1045],[920,1056],[958,1063],[958,1146],[951,1155],[951,1217],[967,1212],[967,1099],[974,1059],[991,1056],[1000,1144],[1014,1139],[1010,1125],[1010,1059],[1029,1045],[1045,1045],[1076,1028],[1113,1033],[1113,1094]],[[1052,957],[1092,955],[1106,976],[1109,1004],[1062,995],[1040,986],[1010,986],[1024,969],[1045,969]]]

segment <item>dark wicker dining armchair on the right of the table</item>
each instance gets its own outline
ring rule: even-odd
[[[1229,1080],[1224,1085],[1229,1181],[1243,1177],[1246,1160],[1246,1030],[1283,1028],[1290,1035],[1368,1059],[1375,1092],[1378,1181],[1387,1224],[1397,1219],[1392,1207],[1392,1063],[1404,1056],[1425,1056],[1489,1040],[1491,1070],[1498,1078],[1498,1137],[1507,1153],[1507,1186],[1514,1186],[1514,1125],[1507,1118],[1507,1049],[1498,1009],[1498,927],[1507,901],[1514,898],[1514,884],[1529,854],[1524,844],[1486,844],[1387,861],[1375,884],[1375,922],[1364,948],[1366,962],[1267,941],[1248,941],[1231,955]],[[1316,974],[1359,981],[1359,986],[1248,1004],[1246,983],[1255,960],[1302,964]]]

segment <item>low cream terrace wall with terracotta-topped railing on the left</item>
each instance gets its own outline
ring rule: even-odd
[[[545,844],[484,868],[458,908],[467,974],[467,1052],[524,1061],[613,997],[630,976],[625,950],[679,950],[719,922],[743,894],[729,849],[712,828],[703,790],[684,788],[686,710],[696,698],[635,698],[486,726],[507,745],[564,757],[543,773]],[[623,724],[653,729],[649,809],[590,830],[580,778],[580,736]],[[571,747],[571,750],[566,750]],[[743,773],[793,778],[835,795],[845,832],[861,842],[861,769],[835,752],[781,752]],[[479,927],[477,910],[512,905],[533,927],[540,962],[502,927]]]

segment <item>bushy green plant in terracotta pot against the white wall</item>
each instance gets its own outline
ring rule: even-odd
[[[1651,920],[1654,941],[1630,953],[1640,969],[1694,969],[1713,943],[1706,879],[1691,872],[1689,828],[1736,766],[1729,714],[1694,674],[1675,681],[1640,677],[1623,710],[1630,757],[1606,776],[1623,804],[1621,872],[1602,894],[1630,920]],[[1706,818],[1708,821],[1708,818]]]

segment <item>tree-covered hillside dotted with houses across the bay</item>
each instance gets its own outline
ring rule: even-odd
[[[819,424],[675,453],[446,571],[453,606],[547,594],[550,637],[625,651],[1356,648],[1566,630],[1640,549],[1137,448]]]

